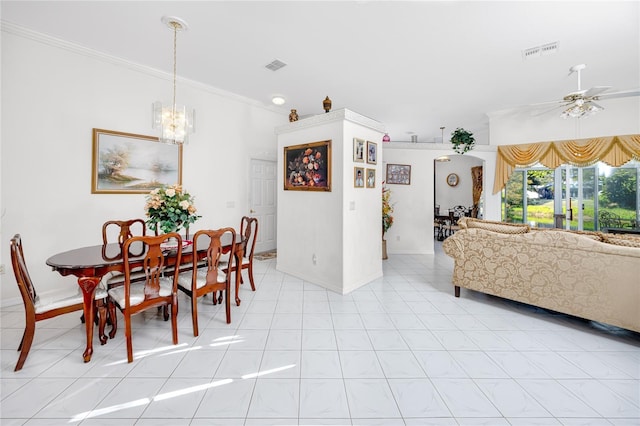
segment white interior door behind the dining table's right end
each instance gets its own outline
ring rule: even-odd
[[[276,161],[251,160],[249,215],[258,218],[255,252],[276,248]]]

